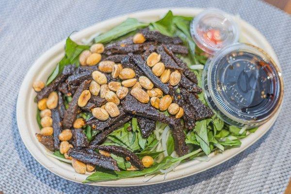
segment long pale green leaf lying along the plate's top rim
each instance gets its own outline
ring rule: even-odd
[[[148,26],[146,23],[139,22],[135,18],[128,18],[118,26],[114,27],[108,32],[105,32],[95,38],[96,43],[108,43],[120,36],[123,36],[136,29]]]

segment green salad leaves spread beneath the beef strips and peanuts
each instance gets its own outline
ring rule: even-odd
[[[112,41],[120,40],[135,34],[139,29],[145,27],[148,27],[150,30],[157,30],[168,36],[178,36],[189,49],[189,54],[187,56],[179,57],[194,71],[198,78],[198,85],[201,87],[201,74],[207,57],[203,54],[202,50],[196,47],[191,37],[189,27],[192,19],[193,17],[174,16],[171,11],[161,20],[149,24],[141,23],[134,18],[128,18],[109,32],[98,35],[93,41],[103,44],[111,43]],[[79,66],[79,55],[83,50],[89,49],[89,47],[90,46],[87,45],[78,45],[68,37],[65,46],[65,57],[49,76],[47,85],[62,72],[65,65],[75,64]],[[198,97],[203,103],[206,103],[202,93],[199,94]],[[72,97],[65,97],[65,106],[67,106],[71,100]],[[164,113],[168,115],[167,111]],[[91,113],[81,113],[78,115],[78,117],[84,119],[89,119],[91,116]],[[40,125],[39,111],[37,112],[37,122]],[[131,131],[128,130],[130,126],[132,128]],[[92,130],[90,126],[85,126],[84,129],[88,141],[94,139],[96,131]],[[189,132],[185,130],[186,144],[189,146],[190,152],[182,157],[178,157],[174,151],[174,139],[169,129],[170,128],[166,124],[157,122],[154,133],[147,139],[144,139],[141,136],[137,119],[132,118],[132,120],[126,123],[122,128],[108,135],[107,140],[102,145],[124,146],[138,155],[140,159],[144,156],[151,156],[155,161],[154,165],[142,171],[127,171],[126,169],[131,166],[130,162],[124,160],[122,157],[111,154],[111,157],[116,160],[121,171],[117,172],[97,167],[96,172],[88,176],[83,183],[148,175],[155,176],[157,174],[166,175],[180,162],[189,160],[208,161],[210,159],[207,156],[211,152],[217,154],[229,148],[239,147],[241,145],[240,139],[256,131],[257,128],[239,129],[235,126],[229,126],[216,115],[209,119],[197,121],[193,130]],[[52,154],[48,155],[51,156]],[[64,155],[59,151],[55,151],[52,156],[63,162],[70,163],[70,160],[66,160]]]

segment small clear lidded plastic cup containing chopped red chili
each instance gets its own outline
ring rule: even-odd
[[[219,9],[207,9],[195,16],[190,31],[197,46],[210,54],[239,39],[236,22]]]

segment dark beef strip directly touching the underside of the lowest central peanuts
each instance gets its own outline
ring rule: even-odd
[[[86,121],[86,124],[90,125],[93,130],[102,131],[109,126],[112,126],[114,123],[122,120],[127,115],[122,108],[119,109],[119,112],[120,114],[118,116],[113,118],[109,117],[106,121],[100,121],[97,118],[94,118]]]

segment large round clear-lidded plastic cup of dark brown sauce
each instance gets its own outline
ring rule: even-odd
[[[255,46],[227,46],[213,56],[204,71],[210,108],[229,124],[235,121],[239,127],[258,126],[281,103],[281,73],[275,62]]]

